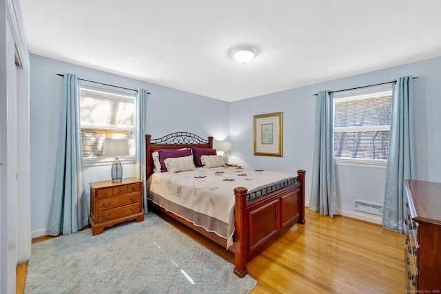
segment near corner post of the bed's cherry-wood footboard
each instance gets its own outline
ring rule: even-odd
[[[247,217],[247,189],[244,187],[234,188],[234,195],[236,196],[236,231],[234,232],[235,250],[234,250],[234,273],[238,277],[244,277],[247,273],[247,231],[248,231],[248,217]]]

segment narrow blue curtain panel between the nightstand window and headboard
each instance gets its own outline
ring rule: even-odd
[[[147,209],[147,189],[145,187],[145,180],[147,180],[145,171],[145,122],[147,114],[147,91],[144,89],[138,90],[138,95],[136,96],[136,118],[137,118],[137,128],[136,128],[136,172],[138,173],[138,178],[144,181],[143,183],[143,208],[144,213],[148,213]],[[149,154],[147,154],[148,156]]]

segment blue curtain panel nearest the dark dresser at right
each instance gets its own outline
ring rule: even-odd
[[[412,76],[398,78],[392,87],[389,142],[382,227],[405,233],[407,195],[404,180],[417,177]]]

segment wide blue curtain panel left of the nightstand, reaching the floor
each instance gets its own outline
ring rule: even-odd
[[[79,85],[75,74],[64,74],[61,100],[59,147],[48,235],[76,233],[88,225],[81,154]]]

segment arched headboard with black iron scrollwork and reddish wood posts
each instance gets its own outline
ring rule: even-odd
[[[147,177],[153,174],[152,152],[159,149],[181,149],[185,147],[212,149],[213,137],[208,137],[208,140],[205,140],[200,136],[187,132],[176,132],[158,139],[152,139],[149,134],[145,135],[145,169]]]

